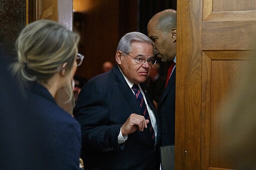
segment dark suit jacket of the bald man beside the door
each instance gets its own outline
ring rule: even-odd
[[[158,116],[161,126],[161,146],[174,145],[175,135],[175,79],[174,68],[166,88],[163,90],[158,102]]]

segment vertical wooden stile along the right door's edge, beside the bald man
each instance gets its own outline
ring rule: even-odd
[[[201,6],[177,1],[175,170],[200,169]]]

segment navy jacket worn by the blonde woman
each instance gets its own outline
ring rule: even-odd
[[[48,90],[34,83],[27,93],[27,102],[33,114],[24,115],[34,125],[28,144],[33,146],[32,153],[39,157],[41,164],[50,170],[78,170],[81,149],[79,123],[60,108]],[[29,142],[31,141],[31,142]],[[38,165],[40,166],[40,165]]]

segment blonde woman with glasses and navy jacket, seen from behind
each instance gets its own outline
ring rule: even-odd
[[[78,41],[78,34],[50,20],[28,24],[16,40],[18,59],[12,72],[32,112],[24,115],[24,120],[33,122],[26,143],[40,160],[37,169],[79,169],[79,123],[54,100],[56,92],[67,86],[72,98],[72,77],[83,59],[77,54]]]

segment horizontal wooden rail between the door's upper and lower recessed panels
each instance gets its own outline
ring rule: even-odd
[[[247,50],[256,33],[256,20],[208,21],[202,27],[203,50]]]

